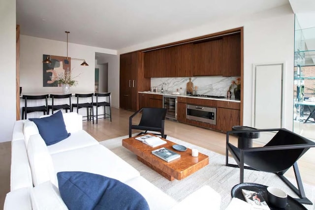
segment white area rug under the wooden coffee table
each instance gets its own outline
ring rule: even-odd
[[[139,162],[136,155],[122,146],[122,139],[128,136],[118,137],[100,142],[108,149],[112,150],[127,163],[137,169],[141,176],[160,188],[163,192],[173,197],[177,201],[186,198],[203,185],[209,185],[221,195],[221,209],[225,209],[231,200],[231,189],[239,183],[240,170],[238,168],[225,166],[225,156],[204,148],[183,142],[181,140],[167,137],[169,141],[184,145],[190,149],[198,149],[199,152],[209,156],[209,165],[190,175],[184,180],[169,181],[157,172]],[[229,158],[229,163],[235,163],[233,158]],[[290,180],[292,181],[292,180]],[[288,195],[297,198],[294,192],[278,178],[277,175],[253,170],[244,171],[244,182],[254,182],[267,186],[275,186],[283,189]],[[292,183],[295,183],[292,182]],[[315,203],[315,186],[304,184],[304,190],[308,199]],[[305,205],[308,210],[315,210],[314,205]]]

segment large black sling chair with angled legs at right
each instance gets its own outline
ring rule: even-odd
[[[228,142],[230,134],[270,131],[278,132],[263,147],[239,149]],[[297,165],[297,160],[312,147],[315,147],[314,142],[284,128],[228,131],[226,132],[225,165],[240,168],[240,183],[244,182],[244,168],[274,173],[300,197],[299,199],[296,199],[298,202],[302,204],[312,204],[312,202],[305,196],[303,183]],[[228,163],[228,152],[231,152],[237,165]],[[244,166],[244,164],[247,164],[248,166]],[[294,169],[298,188],[284,177],[284,173],[291,166],[293,166]]]

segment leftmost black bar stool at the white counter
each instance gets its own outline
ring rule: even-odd
[[[25,101],[25,106],[22,107],[22,120],[27,119],[27,114],[31,112],[43,112],[44,115],[48,113],[48,104],[47,104],[47,95],[23,95],[22,98]],[[44,106],[32,106],[28,107],[28,100],[43,100],[45,99],[45,104]],[[37,103],[36,103],[37,104]]]

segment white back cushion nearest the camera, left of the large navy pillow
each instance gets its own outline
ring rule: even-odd
[[[58,188],[50,181],[32,188],[33,210],[67,210],[68,208],[60,196]]]

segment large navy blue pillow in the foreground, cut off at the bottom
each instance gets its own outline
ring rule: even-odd
[[[57,178],[69,210],[149,210],[145,198],[119,180],[87,172],[59,172]]]

